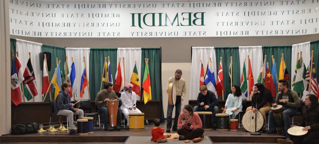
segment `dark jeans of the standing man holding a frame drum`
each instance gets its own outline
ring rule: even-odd
[[[181,113],[181,96],[176,96],[175,102],[175,117],[174,117],[174,125],[173,128],[177,129],[177,121],[179,114]],[[167,129],[172,127],[172,114],[173,114],[174,105],[167,104]]]

